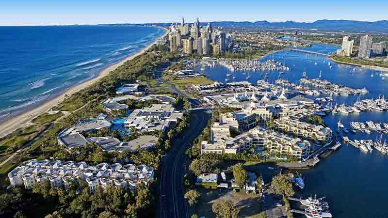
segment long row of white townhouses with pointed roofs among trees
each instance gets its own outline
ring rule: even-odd
[[[26,189],[45,180],[53,187],[68,187],[71,181],[84,179],[93,193],[98,186],[136,190],[137,184],[147,184],[154,178],[154,170],[146,165],[100,163],[90,166],[86,162],[32,159],[9,172],[8,178],[12,187],[24,186]]]

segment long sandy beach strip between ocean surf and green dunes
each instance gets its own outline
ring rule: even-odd
[[[164,29],[166,32],[164,33],[163,36],[159,37],[159,38],[162,38],[162,37],[165,37],[167,34],[168,34],[168,30],[167,29]],[[158,39],[159,39],[158,38]],[[154,44],[156,43],[156,40],[150,44],[148,47],[144,48],[143,50],[137,52],[136,54],[133,54],[129,57],[127,57],[126,59],[124,59],[123,61],[121,62],[118,62],[118,63],[115,63],[113,65],[110,65],[109,67],[103,69],[96,78],[93,78],[91,80],[88,80],[88,81],[85,81],[77,86],[74,86],[74,87],[71,87],[69,89],[67,89],[64,93],[60,94],[59,96],[43,103],[41,106],[35,108],[35,109],[32,109],[28,112],[25,112],[23,114],[20,114],[16,117],[12,117],[8,120],[6,120],[5,122],[1,123],[0,124],[0,138],[12,133],[13,131],[15,131],[16,129],[22,127],[23,125],[26,125],[28,124],[29,122],[32,121],[32,119],[34,119],[35,117],[39,116],[40,114],[48,111],[49,109],[55,107],[56,105],[58,105],[61,101],[63,101],[65,99],[65,96],[69,96],[73,93],[76,93],[76,92],[79,92],[83,89],[85,89],[86,87],[92,85],[93,83],[95,83],[96,81],[98,81],[99,79],[107,76],[111,71],[115,70],[116,68],[118,68],[119,66],[121,66],[124,62],[127,62],[129,60],[132,60],[134,59],[135,57],[143,54],[144,52],[146,52],[146,50],[148,50],[150,47],[152,47]]]

